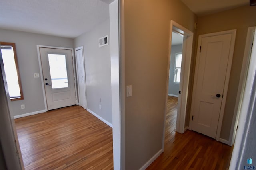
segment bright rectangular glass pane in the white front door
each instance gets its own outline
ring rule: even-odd
[[[68,87],[66,55],[48,54],[52,88]]]

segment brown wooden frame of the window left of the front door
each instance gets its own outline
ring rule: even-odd
[[[17,53],[16,53],[16,45],[15,43],[9,43],[9,42],[0,42],[0,47],[2,45],[9,45],[12,46],[13,49],[13,54],[14,54],[14,61],[15,61],[15,66],[16,66],[16,73],[17,73],[17,77],[18,77],[18,84],[19,84],[19,88],[20,88],[20,97],[19,98],[10,98],[11,101],[16,101],[16,100],[23,100],[24,96],[23,96],[23,90],[22,90],[22,86],[21,86],[21,80],[20,80],[20,70],[19,70],[19,66],[18,66],[18,58],[17,58]],[[10,96],[9,96],[10,97]]]

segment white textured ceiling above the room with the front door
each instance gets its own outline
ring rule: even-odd
[[[0,0],[0,28],[74,38],[109,18],[110,0]]]

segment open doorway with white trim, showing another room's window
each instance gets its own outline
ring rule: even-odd
[[[188,82],[190,76],[192,43],[193,33],[188,29],[184,28],[183,26],[179,25],[175,21],[171,20],[169,43],[170,49],[168,55],[169,64],[166,79],[166,109],[164,117],[164,133],[162,144],[163,150],[166,131],[166,120],[168,119],[167,114],[170,111],[170,107],[168,106],[168,104],[170,105],[170,103],[172,103],[172,107],[176,107],[177,118],[175,130],[178,133],[184,133],[184,131],[186,130],[185,117],[188,98]],[[172,85],[176,85],[176,88],[172,88]]]

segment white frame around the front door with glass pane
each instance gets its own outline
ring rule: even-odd
[[[42,48],[51,48],[51,49],[64,49],[64,50],[71,50],[72,52],[72,64],[73,64],[73,74],[74,78],[76,77],[76,67],[75,67],[75,62],[74,62],[74,49],[72,48],[66,48],[66,47],[54,47],[54,46],[47,46],[47,45],[36,45],[37,49],[37,55],[38,55],[38,63],[39,63],[39,71],[40,71],[40,77],[41,77],[41,82],[42,82],[42,90],[43,90],[43,96],[44,96],[44,111],[48,111],[47,107],[47,101],[46,101],[46,94],[45,94],[45,88],[44,88],[44,77],[43,77],[43,69],[42,69],[42,63],[41,63],[41,55],[40,55],[40,47]],[[76,94],[76,105],[78,104],[77,100],[77,86],[76,86],[76,78],[74,80],[75,83],[75,94]]]

